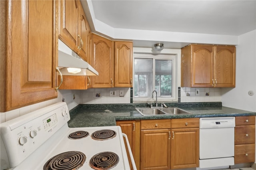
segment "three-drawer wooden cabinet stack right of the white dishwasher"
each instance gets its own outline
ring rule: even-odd
[[[255,116],[236,117],[235,164],[255,161]]]

